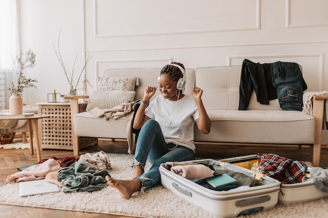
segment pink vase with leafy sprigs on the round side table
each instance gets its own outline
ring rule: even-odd
[[[37,88],[35,83],[36,79],[26,78],[23,71],[26,68],[33,68],[35,66],[35,54],[29,49],[25,53],[25,58],[22,52],[14,59],[13,71],[17,77],[17,80],[11,84],[11,88],[8,90],[12,96],[9,98],[9,113],[10,114],[22,114],[23,112],[23,101],[21,94],[25,88],[33,87]]]

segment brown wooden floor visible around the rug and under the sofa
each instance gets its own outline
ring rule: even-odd
[[[84,148],[81,154],[87,152],[104,151],[106,153],[126,153],[126,142],[111,142],[110,140],[100,140],[99,145]],[[227,157],[238,157],[247,154],[275,153],[292,160],[312,162],[312,148],[309,146],[292,147],[267,147],[267,146],[233,146],[233,145],[197,145],[196,157],[222,159]],[[41,158],[72,156],[70,150],[44,149],[41,151]],[[3,149],[0,148],[0,186],[4,185],[4,180],[8,175],[18,172],[17,167],[33,164],[37,162],[36,151],[30,154],[29,149]],[[328,149],[323,145],[321,149],[321,167],[328,166]],[[96,213],[83,213],[73,211],[51,210],[34,207],[19,207],[0,204],[1,218],[128,218],[117,215],[104,215]]]

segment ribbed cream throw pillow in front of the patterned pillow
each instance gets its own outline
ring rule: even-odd
[[[135,91],[93,91],[88,100],[86,111],[94,108],[111,109],[127,101],[133,101]]]

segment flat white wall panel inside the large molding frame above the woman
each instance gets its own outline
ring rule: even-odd
[[[95,0],[95,36],[153,36],[258,29],[259,2]]]

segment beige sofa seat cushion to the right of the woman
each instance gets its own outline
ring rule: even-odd
[[[209,134],[194,129],[196,142],[312,145],[314,118],[295,110],[207,110]]]

